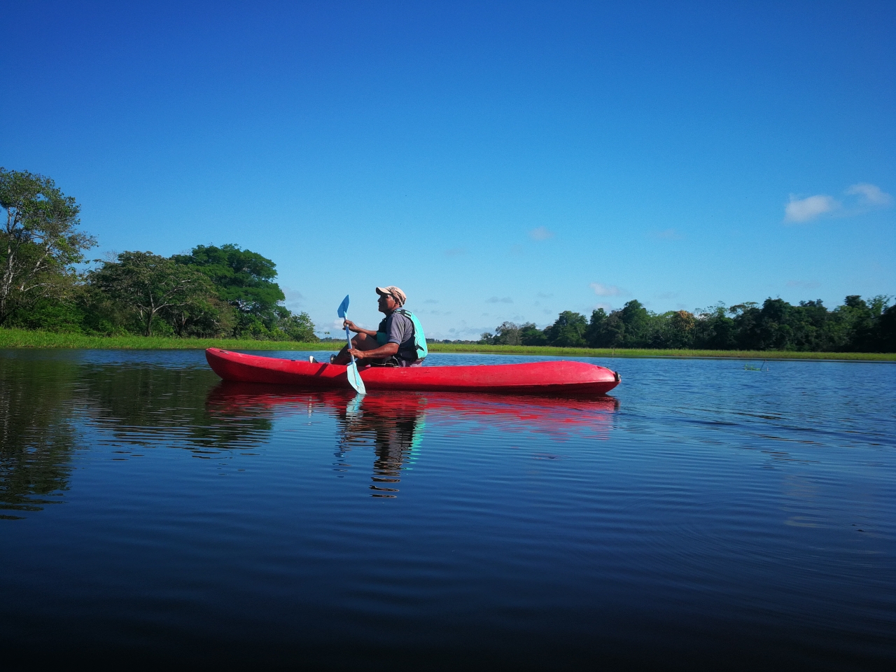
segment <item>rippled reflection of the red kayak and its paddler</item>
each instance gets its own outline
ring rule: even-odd
[[[339,426],[334,469],[344,476],[353,466],[351,455],[373,448],[372,483],[375,497],[395,497],[402,471],[418,460],[427,427],[475,434],[486,429],[504,433],[547,434],[565,440],[573,433],[607,438],[619,402],[610,396],[590,399],[524,395],[434,392],[296,392],[280,385],[220,383],[209,395],[212,414],[230,418],[323,411]]]

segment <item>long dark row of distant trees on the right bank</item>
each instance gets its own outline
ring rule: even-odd
[[[590,318],[573,311],[538,329],[534,323],[500,324],[480,343],[551,345],[571,348],[650,348],[710,350],[797,350],[814,352],[896,352],[896,304],[890,297],[846,297],[828,310],[822,301],[793,306],[767,298],[762,306],[737,306],[653,313],[640,301],[619,310],[594,310]]]

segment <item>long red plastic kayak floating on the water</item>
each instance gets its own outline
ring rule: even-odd
[[[214,372],[236,383],[278,383],[310,390],[348,390],[346,366],[297,359],[205,351]],[[583,362],[531,362],[483,366],[368,366],[360,369],[367,390],[606,394],[619,374]]]

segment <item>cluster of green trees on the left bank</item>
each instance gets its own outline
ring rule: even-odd
[[[276,264],[237,245],[164,257],[123,252],[78,271],[97,245],[52,179],[0,168],[0,326],[99,335],[317,340]]]

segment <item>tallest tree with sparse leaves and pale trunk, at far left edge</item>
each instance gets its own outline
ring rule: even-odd
[[[40,298],[59,297],[73,285],[73,264],[96,245],[77,229],[80,206],[49,177],[0,168],[0,324]]]

